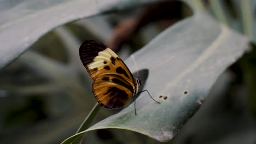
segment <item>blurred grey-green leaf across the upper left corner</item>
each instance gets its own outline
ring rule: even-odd
[[[0,68],[18,57],[43,34],[64,23],[150,1],[9,1],[0,2]]]

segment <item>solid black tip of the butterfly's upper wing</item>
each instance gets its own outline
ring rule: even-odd
[[[103,51],[107,48],[106,45],[103,45],[95,40],[85,40],[84,43],[79,48],[79,56],[84,65],[87,68],[87,65],[93,62],[93,59],[98,56],[98,52]]]

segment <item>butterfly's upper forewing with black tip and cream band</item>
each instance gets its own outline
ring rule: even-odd
[[[80,59],[92,79],[103,73],[117,73],[129,79],[134,86],[134,79],[125,63],[106,45],[95,40],[86,40],[79,48]]]

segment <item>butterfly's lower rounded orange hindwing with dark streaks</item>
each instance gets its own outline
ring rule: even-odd
[[[100,74],[95,77],[92,91],[98,103],[108,109],[118,109],[129,101],[134,87],[130,80],[116,73]]]

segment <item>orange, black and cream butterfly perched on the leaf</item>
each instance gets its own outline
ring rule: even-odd
[[[79,56],[94,80],[92,92],[101,106],[107,109],[118,109],[123,107],[131,97],[135,102],[135,95],[138,94],[141,81],[133,78],[126,64],[109,47],[95,40],[86,40],[79,48]],[[150,94],[149,96],[151,97]]]

